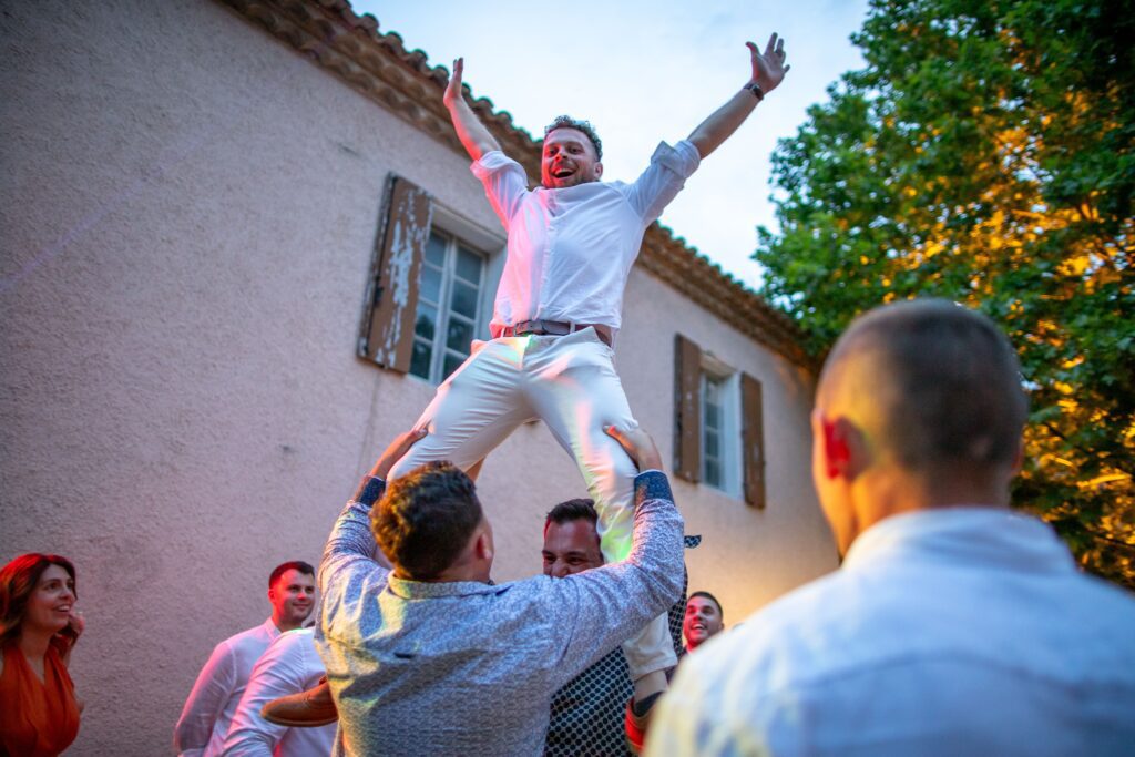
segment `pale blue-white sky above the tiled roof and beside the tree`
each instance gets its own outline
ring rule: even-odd
[[[756,227],[775,228],[770,157],[841,74],[861,68],[849,35],[867,0],[352,0],[432,66],[465,58],[473,96],[533,136],[560,113],[590,120],[604,178],[633,180],[659,140],[684,138],[749,78],[747,40],[784,37],[784,82],[687,182],[662,222],[750,287]],[[538,177],[529,177],[538,180]]]

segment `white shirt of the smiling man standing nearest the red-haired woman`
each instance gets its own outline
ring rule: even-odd
[[[197,674],[182,717],[174,727],[174,749],[178,755],[215,757],[220,754],[252,666],[279,634],[269,617],[217,645]]]

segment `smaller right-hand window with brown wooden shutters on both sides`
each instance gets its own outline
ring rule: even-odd
[[[674,378],[674,473],[764,507],[760,382],[680,334]]]

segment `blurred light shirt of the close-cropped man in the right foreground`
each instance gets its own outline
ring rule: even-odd
[[[1007,510],[888,518],[681,665],[648,755],[1132,755],[1135,598]]]

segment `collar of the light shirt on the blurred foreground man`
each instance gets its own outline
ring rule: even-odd
[[[859,535],[844,570],[878,563],[952,562],[1033,572],[1075,570],[1046,523],[1006,507],[956,506],[891,515]]]

